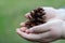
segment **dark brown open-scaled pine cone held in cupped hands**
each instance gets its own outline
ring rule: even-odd
[[[46,13],[44,10],[41,8],[38,8],[36,10],[34,10],[34,12],[30,12],[30,16],[32,18],[29,17],[29,22],[26,23],[26,27],[31,28],[34,26],[37,25],[41,25],[46,23]]]

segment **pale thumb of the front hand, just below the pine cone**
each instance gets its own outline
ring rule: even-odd
[[[44,32],[44,31],[49,31],[50,29],[51,28],[48,25],[42,24],[26,30],[26,32]]]

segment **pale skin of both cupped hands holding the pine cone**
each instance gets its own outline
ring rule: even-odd
[[[40,43],[49,43],[65,38],[65,10],[53,8],[43,9],[47,23],[30,29],[27,29],[26,22],[22,23],[22,27],[16,29],[17,34],[26,40]],[[31,17],[30,13],[27,13],[25,16],[27,19],[28,16]]]

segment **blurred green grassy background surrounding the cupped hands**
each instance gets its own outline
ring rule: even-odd
[[[63,8],[65,0],[0,0],[0,43],[31,43],[18,37],[15,29],[25,20],[24,15],[38,6]]]

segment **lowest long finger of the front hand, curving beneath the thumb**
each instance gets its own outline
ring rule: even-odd
[[[42,39],[42,38],[48,38],[48,37],[50,37],[50,32],[46,32],[46,33],[40,33],[40,34],[34,34],[34,33],[26,33],[26,32],[23,32],[23,31],[21,31],[20,29],[16,29],[16,32],[21,35],[21,37],[23,37],[23,38],[25,38],[25,39],[28,39],[28,40],[39,40],[39,39]]]

